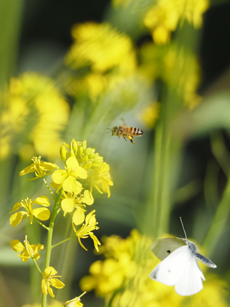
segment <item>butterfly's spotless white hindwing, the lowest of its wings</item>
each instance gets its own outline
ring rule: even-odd
[[[181,277],[175,284],[176,293],[187,296],[200,292],[203,289],[201,278],[205,280],[197,260],[190,255]]]

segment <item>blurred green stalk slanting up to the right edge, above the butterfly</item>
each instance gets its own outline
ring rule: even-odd
[[[223,198],[217,208],[217,212],[212,220],[209,231],[203,241],[208,257],[211,257],[220,236],[223,234],[230,213],[230,178],[228,179]]]

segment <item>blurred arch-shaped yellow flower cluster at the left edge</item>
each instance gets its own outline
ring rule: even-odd
[[[37,73],[26,72],[18,78],[11,78],[3,99],[0,159],[11,150],[19,151],[24,159],[29,159],[35,152],[56,158],[60,133],[67,124],[69,106],[55,88],[54,81]],[[16,136],[21,142],[16,143]]]

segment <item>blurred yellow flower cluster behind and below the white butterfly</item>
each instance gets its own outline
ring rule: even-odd
[[[204,289],[189,299],[178,295],[174,287],[151,280],[148,275],[159,263],[151,253],[152,240],[132,230],[127,239],[104,237],[99,253],[105,260],[90,266],[90,275],[80,281],[82,290],[95,289],[111,307],[227,307],[226,284],[206,274]]]

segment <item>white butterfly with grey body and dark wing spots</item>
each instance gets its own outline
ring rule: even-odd
[[[176,293],[182,296],[192,295],[203,289],[201,278],[205,278],[197,260],[209,267],[217,267],[211,260],[199,254],[197,246],[187,237],[158,239],[150,248],[162,261],[155,266],[149,277],[167,286],[175,286]]]

